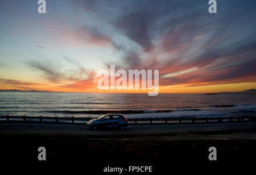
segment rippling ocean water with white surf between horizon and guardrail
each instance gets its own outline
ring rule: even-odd
[[[255,94],[0,92],[0,116],[127,118],[255,116]]]

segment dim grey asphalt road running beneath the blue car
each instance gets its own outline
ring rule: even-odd
[[[125,131],[88,130],[86,125],[69,123],[18,123],[0,122],[0,133],[77,133],[88,135],[125,134],[168,134],[185,131],[225,131],[256,130],[254,122],[234,123],[181,123],[181,124],[143,124],[129,125]]]

